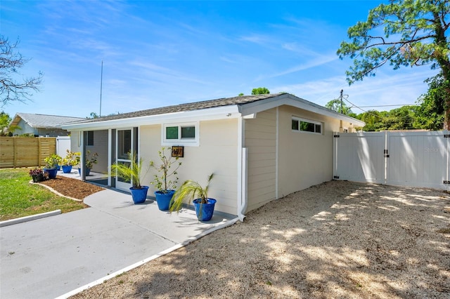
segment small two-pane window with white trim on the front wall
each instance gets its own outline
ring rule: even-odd
[[[198,145],[198,123],[164,124],[162,145]]]

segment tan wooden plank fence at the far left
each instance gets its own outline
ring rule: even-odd
[[[54,137],[0,137],[0,168],[44,166],[55,153]]]

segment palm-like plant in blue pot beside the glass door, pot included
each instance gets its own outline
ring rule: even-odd
[[[136,159],[136,154],[128,153],[131,163],[118,162],[111,166],[111,171],[126,181],[131,182],[129,188],[134,204],[142,204],[147,199],[148,186],[141,185],[142,158]]]

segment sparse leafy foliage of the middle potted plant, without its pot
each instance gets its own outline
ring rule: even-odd
[[[165,153],[165,150],[166,148],[162,147],[162,149],[158,151],[161,164],[157,165],[154,161],[150,161],[150,167],[158,171],[157,174],[153,175],[153,182],[150,183],[155,185],[156,189],[162,193],[168,193],[169,190],[176,189],[176,185],[178,184],[178,177],[176,175],[178,174],[178,168],[181,166],[181,161],[178,161],[179,158],[176,157],[172,159],[173,157],[172,154],[170,154],[170,149],[168,149],[169,155]],[[173,180],[171,179],[172,176],[174,177]]]

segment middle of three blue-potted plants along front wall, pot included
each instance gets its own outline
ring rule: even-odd
[[[176,185],[178,183],[178,168],[181,166],[181,162],[177,161],[179,157],[172,159],[172,154],[166,155],[166,148],[162,147],[158,151],[161,164],[156,165],[154,161],[150,161],[150,167],[155,168],[158,173],[153,176],[152,185],[155,185],[157,191],[155,191],[156,202],[158,208],[161,211],[169,210],[170,201],[175,193]],[[170,149],[169,149],[169,152]],[[173,168],[172,168],[173,166]],[[171,169],[172,168],[172,169]],[[173,176],[173,179],[171,178]]]

